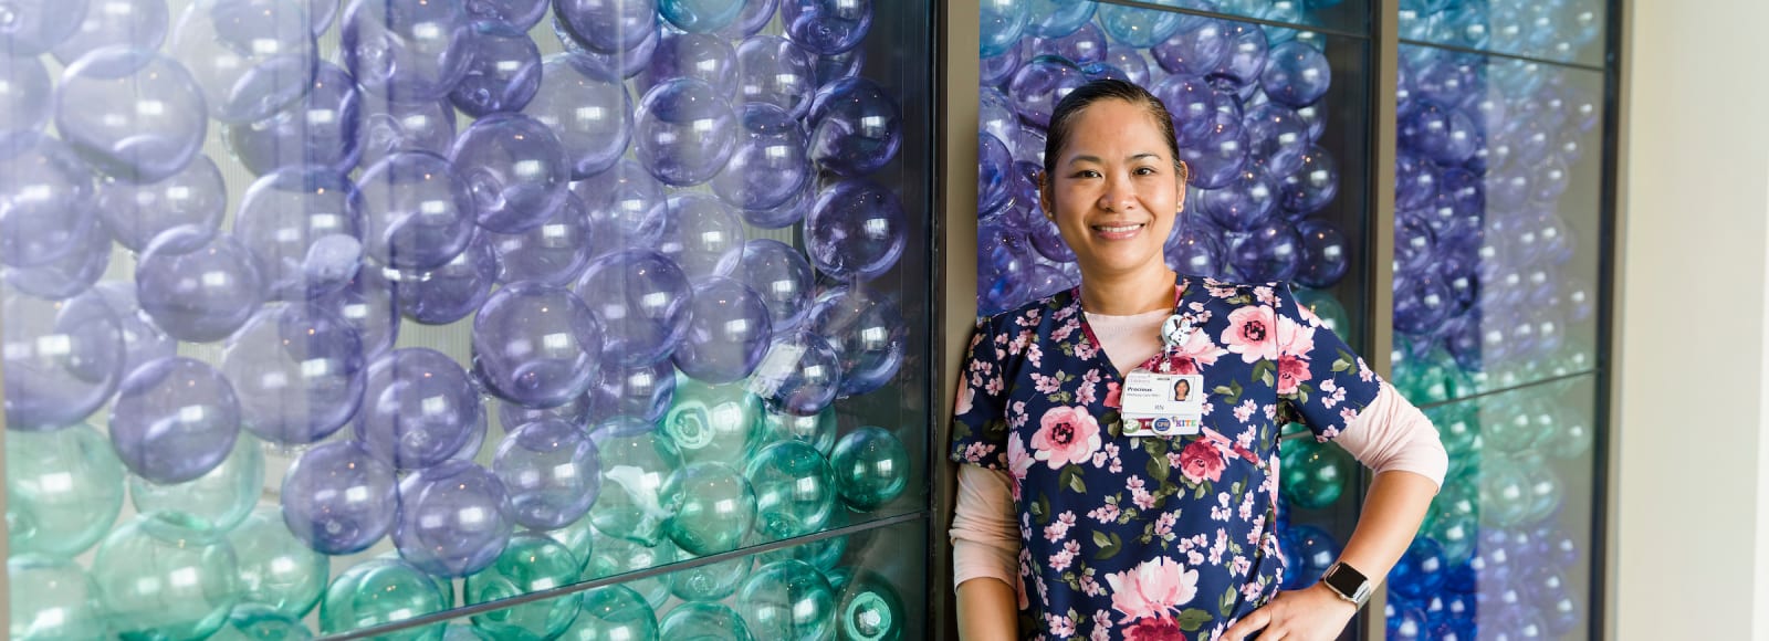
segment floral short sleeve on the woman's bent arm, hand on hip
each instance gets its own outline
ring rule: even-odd
[[[1277,301],[1277,400],[1286,421],[1306,425],[1318,441],[1339,436],[1382,393],[1382,377],[1290,285]]]

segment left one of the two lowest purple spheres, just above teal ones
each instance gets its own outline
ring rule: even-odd
[[[283,475],[283,524],[320,554],[361,552],[393,529],[394,490],[393,467],[357,441],[322,443]]]

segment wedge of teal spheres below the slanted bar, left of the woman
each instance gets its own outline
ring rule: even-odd
[[[925,639],[927,521],[462,616],[446,639]],[[741,629],[745,634],[732,634]],[[697,636],[699,634],[699,636]]]

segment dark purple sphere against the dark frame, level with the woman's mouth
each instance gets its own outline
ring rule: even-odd
[[[872,181],[842,181],[817,195],[805,220],[810,262],[837,278],[872,280],[897,266],[907,244],[902,202]]]

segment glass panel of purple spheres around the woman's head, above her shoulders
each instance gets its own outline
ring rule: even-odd
[[[1367,44],[1286,32],[1281,48],[1261,44],[1238,62],[1199,66],[1196,51],[1210,50],[1199,34],[1221,46],[1224,37],[1263,42],[1265,30],[1178,19],[1194,37],[1175,35],[1171,48],[1120,35],[1061,48],[1021,37],[1008,53],[982,60],[978,310],[1010,310],[1077,282],[1074,253],[1038,207],[1044,127],[1070,89],[1123,78],[1166,103],[1191,168],[1187,212],[1168,243],[1168,262],[1189,274],[1320,289],[1302,296],[1359,345],[1364,319],[1348,310],[1364,310],[1366,294],[1344,276],[1367,266],[1359,243],[1367,225],[1367,172],[1359,161],[1369,149]]]

